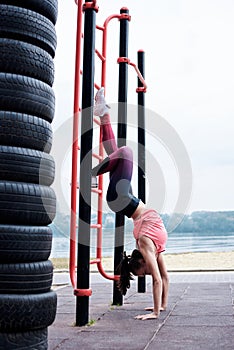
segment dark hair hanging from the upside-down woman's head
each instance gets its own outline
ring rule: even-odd
[[[130,281],[133,280],[133,275],[141,267],[140,260],[144,259],[141,252],[138,249],[134,249],[132,255],[123,254],[123,259],[119,265],[120,279],[118,281],[118,289],[122,295],[127,293],[127,289],[130,288]]]

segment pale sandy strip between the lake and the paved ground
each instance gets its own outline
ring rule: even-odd
[[[182,253],[164,254],[168,271],[209,271],[234,270],[234,251],[214,253]],[[69,262],[66,258],[51,259],[55,270],[68,270]],[[113,258],[103,258],[102,266],[105,271],[113,271]],[[91,271],[97,271],[96,264],[92,264]]]

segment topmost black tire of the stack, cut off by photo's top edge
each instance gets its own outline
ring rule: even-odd
[[[47,17],[53,24],[58,17],[58,0],[0,0],[0,4],[23,7]]]

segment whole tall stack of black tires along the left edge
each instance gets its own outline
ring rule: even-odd
[[[57,0],[0,0],[0,349],[47,349],[56,315],[51,122]]]

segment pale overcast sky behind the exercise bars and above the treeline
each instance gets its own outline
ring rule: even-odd
[[[165,119],[183,142],[191,162],[193,188],[186,210],[234,210],[233,0],[99,0],[98,5],[99,25],[110,14],[119,13],[121,7],[129,8],[132,16],[129,58],[136,63],[137,51],[146,52],[146,107],[150,111],[147,128],[151,130],[149,123],[154,113]],[[109,27],[106,97],[110,103],[116,103],[118,21],[114,20]],[[73,0],[59,0],[56,29],[55,134],[73,111],[76,39]],[[130,67],[128,102],[133,105],[137,98],[135,88],[136,76]],[[170,168],[164,161],[170,158],[174,164],[178,159],[162,142],[155,151],[154,136],[148,138],[148,152],[154,154],[162,173],[165,172],[167,192],[163,208],[159,209],[173,211],[181,184],[176,179],[178,169]],[[154,173],[154,169],[147,167],[147,171]],[[64,177],[70,181],[69,173]],[[148,192],[150,186],[153,185],[149,185]]]

